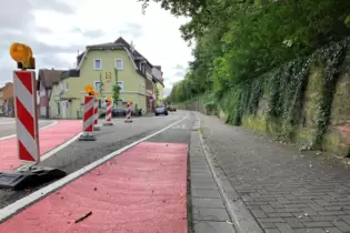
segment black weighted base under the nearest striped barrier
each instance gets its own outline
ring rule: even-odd
[[[17,171],[0,172],[0,189],[23,190],[61,179],[66,175],[67,173],[59,169],[44,166],[31,166],[29,169],[23,166]]]

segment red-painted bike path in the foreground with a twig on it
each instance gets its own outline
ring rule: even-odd
[[[0,232],[187,233],[187,144],[140,143],[2,223]]]

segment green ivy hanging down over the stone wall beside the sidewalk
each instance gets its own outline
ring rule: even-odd
[[[226,91],[220,97],[211,97],[206,104],[220,107],[228,115],[227,123],[240,125],[244,115],[256,115],[262,94],[269,97],[266,114],[267,126],[273,128],[274,135],[282,141],[294,141],[301,125],[304,93],[311,64],[324,68],[321,81],[321,100],[318,103],[317,124],[311,150],[321,150],[327,132],[331,105],[339,77],[339,68],[344,61],[350,38],[318,50],[311,57],[299,58],[263,75],[248,79]],[[219,104],[216,104],[219,102]]]

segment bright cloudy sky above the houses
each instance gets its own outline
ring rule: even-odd
[[[31,47],[37,69],[72,69],[86,45],[113,42],[119,37],[152,64],[161,65],[164,95],[180,81],[193,60],[176,18],[151,3],[144,14],[137,0],[13,0],[0,8],[0,87],[12,81],[16,62],[11,43]]]

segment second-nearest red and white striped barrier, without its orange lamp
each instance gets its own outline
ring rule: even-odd
[[[80,141],[94,141],[93,124],[94,124],[94,97],[84,97],[83,119],[82,119],[82,135]]]

